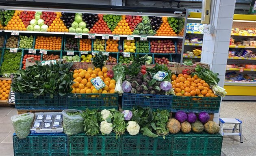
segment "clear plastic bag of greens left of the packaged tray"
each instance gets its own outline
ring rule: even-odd
[[[25,113],[11,117],[17,137],[25,139],[30,134],[30,127],[34,120],[34,113]]]

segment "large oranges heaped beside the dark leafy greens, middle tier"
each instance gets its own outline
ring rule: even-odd
[[[72,85],[72,93],[115,93],[115,80],[111,80],[111,78],[108,77],[107,72],[108,69],[106,67],[103,67],[102,69],[96,68],[94,70],[92,68],[88,68],[87,70],[74,70],[74,84]],[[100,90],[95,89],[95,87],[91,83],[91,79],[98,76],[104,81],[106,85]]]

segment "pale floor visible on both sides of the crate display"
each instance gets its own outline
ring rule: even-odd
[[[223,101],[221,117],[243,121],[243,143],[238,136],[224,136],[221,156],[256,156],[256,102]],[[0,156],[13,156],[11,116],[17,115],[14,106],[0,106]]]

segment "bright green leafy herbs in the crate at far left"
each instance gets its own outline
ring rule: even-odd
[[[9,52],[9,50],[4,51],[4,61],[2,62],[1,75],[9,77],[10,74],[17,72],[20,69],[20,60],[22,58],[22,53]]]

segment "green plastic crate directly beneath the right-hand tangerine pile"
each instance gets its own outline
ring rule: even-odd
[[[218,113],[221,97],[173,96],[171,112]]]

